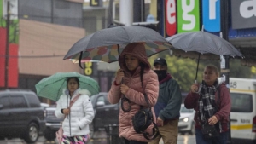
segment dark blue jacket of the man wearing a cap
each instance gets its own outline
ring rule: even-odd
[[[159,96],[154,105],[154,112],[157,117],[163,120],[179,118],[179,111],[182,102],[182,95],[179,84],[170,74],[160,82]]]

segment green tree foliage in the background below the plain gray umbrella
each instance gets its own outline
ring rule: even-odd
[[[195,73],[197,60],[172,56],[168,54],[168,51],[161,52],[157,55],[151,56],[148,60],[153,66],[154,59],[163,57],[168,64],[168,72],[172,77],[177,80],[180,88],[183,92],[189,92],[191,84],[195,83]],[[219,60],[200,60],[197,74],[197,83],[201,83],[204,67],[207,65],[214,65],[218,67],[220,71]],[[252,78],[251,67],[241,66],[240,60],[230,59],[230,77],[235,78]]]

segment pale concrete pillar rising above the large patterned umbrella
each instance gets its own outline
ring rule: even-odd
[[[133,0],[120,0],[119,14],[121,23],[125,26],[132,26]]]

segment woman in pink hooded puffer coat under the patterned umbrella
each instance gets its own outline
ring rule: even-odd
[[[151,70],[142,43],[128,44],[119,56],[119,66],[108,92],[108,101],[112,104],[126,98],[122,103],[125,111],[122,108],[119,110],[119,137],[124,138],[125,144],[147,144],[148,140],[143,134],[134,130],[131,118],[140,110],[140,106],[148,107],[143,94],[148,96],[150,107],[154,107],[159,90],[157,75]],[[154,109],[151,110],[154,113]],[[146,130],[150,135],[153,126],[151,124]]]

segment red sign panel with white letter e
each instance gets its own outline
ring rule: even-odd
[[[166,0],[166,33],[172,36],[177,30],[176,0]]]

